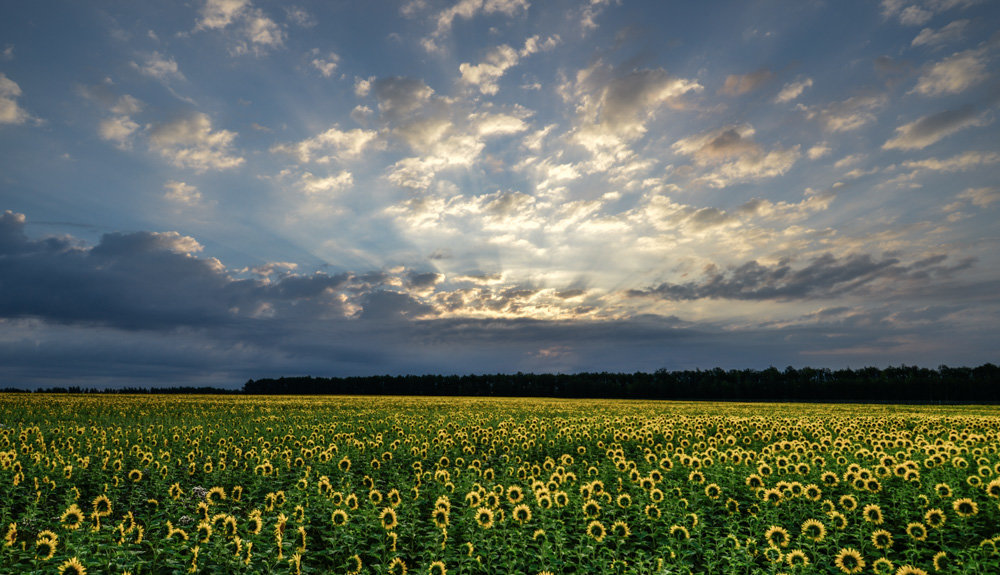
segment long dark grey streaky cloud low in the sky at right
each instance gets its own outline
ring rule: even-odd
[[[709,265],[701,281],[663,283],[646,290],[633,290],[630,295],[670,301],[828,299],[894,289],[894,284],[908,280],[947,278],[974,263],[963,259],[952,266],[942,265],[945,259],[946,256],[939,255],[904,265],[894,257],[876,259],[870,254],[853,254],[837,258],[823,254],[798,268],[788,260],[770,266],[748,261],[724,271]]]

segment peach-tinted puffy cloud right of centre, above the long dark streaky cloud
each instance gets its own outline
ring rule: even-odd
[[[783,175],[801,156],[798,146],[767,151],[753,140],[753,135],[749,124],[727,126],[682,138],[671,149],[691,157],[697,166],[710,167],[697,181],[716,188]]]

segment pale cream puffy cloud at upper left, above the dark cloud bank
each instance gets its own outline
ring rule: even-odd
[[[212,130],[207,114],[194,113],[172,122],[151,126],[150,149],[158,152],[178,168],[196,172],[227,170],[243,164],[244,159],[232,151],[236,132]]]

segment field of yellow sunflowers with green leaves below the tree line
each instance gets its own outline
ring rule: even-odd
[[[1000,409],[0,396],[3,573],[1000,573]]]

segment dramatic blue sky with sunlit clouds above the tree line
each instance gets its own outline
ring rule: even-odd
[[[0,7],[0,385],[1000,361],[1000,4]]]

